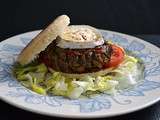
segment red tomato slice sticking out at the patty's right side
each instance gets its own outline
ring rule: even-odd
[[[110,61],[104,65],[105,68],[116,67],[124,60],[124,50],[123,48],[112,45],[112,55]]]

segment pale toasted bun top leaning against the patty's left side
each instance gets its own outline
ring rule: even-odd
[[[43,51],[57,36],[61,35],[69,25],[67,15],[57,17],[46,29],[40,32],[19,54],[17,62],[22,65],[31,62],[37,54]]]

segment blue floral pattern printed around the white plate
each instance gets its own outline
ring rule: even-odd
[[[160,77],[160,54],[159,52],[152,52],[143,42],[136,39],[128,39],[127,37],[102,31],[105,39],[111,39],[114,43],[120,44],[125,49],[133,51],[138,57],[144,60],[145,64],[145,80],[143,83],[137,85],[135,88],[120,92],[119,95],[127,96],[125,99],[118,99],[116,96],[108,96],[100,94],[91,98],[80,98],[78,100],[69,100],[60,96],[42,96],[38,95],[23,86],[21,86],[12,76],[12,66],[16,60],[19,52],[32,39],[29,37],[21,37],[19,42],[21,44],[11,44],[9,42],[1,43],[0,46],[0,87],[7,84],[9,88],[6,96],[23,99],[28,104],[45,104],[51,107],[60,107],[64,104],[74,105],[79,107],[81,113],[91,113],[104,109],[111,109],[113,102],[119,105],[131,104],[132,100],[129,96],[138,97],[144,96],[147,91],[152,91],[160,88],[160,81],[152,80],[152,76]]]

